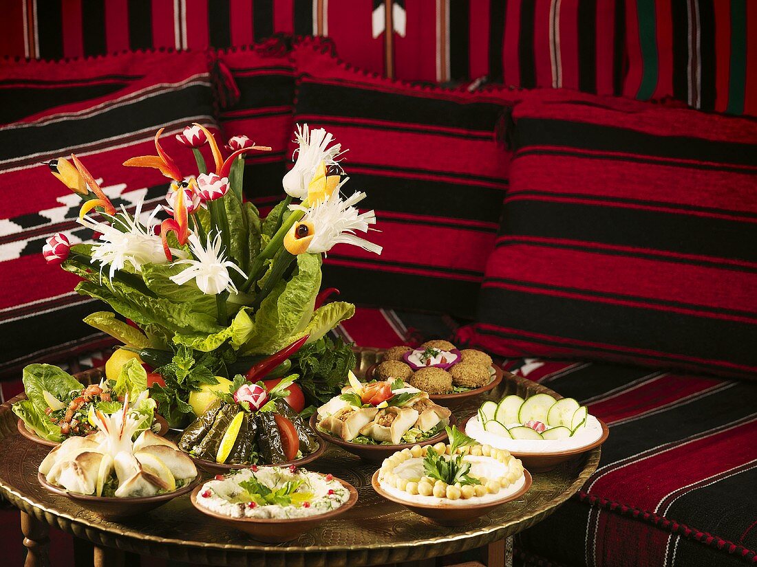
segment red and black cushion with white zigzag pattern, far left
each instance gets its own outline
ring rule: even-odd
[[[42,258],[52,234],[79,243],[92,232],[75,222],[79,197],[40,162],[76,153],[115,206],[133,212],[144,198],[151,210],[164,200],[167,179],[122,163],[154,155],[154,134],[165,127],[164,148],[182,171],[195,172],[192,152],[173,135],[191,122],[215,122],[202,53],[6,62],[0,76],[0,375],[7,375],[111,342],[81,321],[106,305],[78,296],[79,278]]]

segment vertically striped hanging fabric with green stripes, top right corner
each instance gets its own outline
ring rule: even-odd
[[[757,3],[626,0],[626,12],[626,96],[757,114]]]

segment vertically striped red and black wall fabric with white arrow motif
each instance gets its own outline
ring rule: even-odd
[[[327,36],[350,64],[410,81],[619,94],[621,0],[0,0],[0,55],[226,49],[276,33]],[[389,30],[389,33],[387,33]]]

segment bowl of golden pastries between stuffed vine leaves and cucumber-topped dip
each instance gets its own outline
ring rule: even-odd
[[[447,438],[455,418],[428,393],[403,380],[349,382],[310,417],[326,441],[366,460],[383,460],[413,445],[434,445]]]

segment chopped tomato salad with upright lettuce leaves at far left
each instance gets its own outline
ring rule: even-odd
[[[23,369],[23,389],[26,399],[13,404],[13,412],[47,441],[94,433],[95,411],[114,414],[125,402],[139,420],[139,431],[153,426],[156,404],[149,397],[147,372],[136,359],[123,365],[117,380],[89,386],[51,364],[30,364]]]

